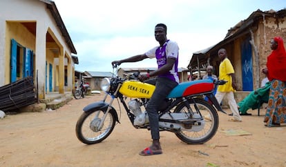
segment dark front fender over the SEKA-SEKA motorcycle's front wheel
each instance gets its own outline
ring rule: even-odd
[[[95,103],[92,104],[88,104],[88,106],[84,107],[84,112],[93,112],[95,110],[102,110],[104,113],[106,112],[108,108],[108,104],[104,101],[97,101]],[[109,110],[109,112],[111,112],[111,114],[113,114],[115,116],[115,119],[118,123],[120,123],[119,119],[118,119],[118,115],[117,112],[115,110],[115,108],[113,108],[113,106],[111,106],[111,110]]]

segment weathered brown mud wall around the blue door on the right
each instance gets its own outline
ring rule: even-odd
[[[266,67],[267,57],[271,53],[270,40],[274,37],[280,36],[284,40],[284,45],[286,46],[286,17],[284,19],[274,19],[266,18],[265,21],[260,20],[256,30],[254,31],[254,43],[258,50],[258,62],[256,62],[256,57],[254,55],[254,48],[252,48],[252,60],[253,60],[253,78],[254,78],[254,90],[260,87],[260,83],[265,75],[261,72],[263,68]],[[245,36],[244,36],[245,37]],[[240,43],[244,37],[236,39],[230,46],[233,47],[233,56],[231,62],[236,70],[236,81],[238,89],[241,90],[242,79],[241,79],[241,62],[240,62]],[[231,49],[229,45],[227,49]],[[286,73],[285,73],[286,75]],[[259,85],[256,85],[256,79],[259,80]],[[237,91],[234,93],[236,102],[242,101],[247,95],[248,91]],[[228,108],[227,99],[222,101],[222,104]]]

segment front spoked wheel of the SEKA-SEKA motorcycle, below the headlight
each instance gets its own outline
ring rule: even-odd
[[[84,144],[97,144],[111,134],[115,120],[115,115],[111,112],[108,112],[105,118],[103,110],[84,112],[75,127],[77,139]]]

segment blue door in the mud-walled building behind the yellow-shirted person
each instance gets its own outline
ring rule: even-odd
[[[241,63],[242,63],[242,90],[252,91],[253,84],[253,68],[252,68],[252,50],[249,43],[250,37],[241,43]]]

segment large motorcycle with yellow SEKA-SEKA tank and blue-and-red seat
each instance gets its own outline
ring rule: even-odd
[[[119,66],[113,66],[113,74]],[[102,101],[88,104],[77,120],[75,132],[84,144],[97,144],[106,139],[120,123],[113,101],[120,101],[126,110],[131,124],[136,129],[150,130],[146,106],[155,86],[139,81],[139,72],[126,78],[114,75],[104,78],[101,88],[106,92]],[[179,83],[166,97],[165,104],[158,110],[160,131],[169,131],[187,144],[203,144],[211,139],[218,130],[218,112],[224,112],[218,104],[213,90],[226,81],[209,79]],[[204,101],[209,98],[211,103]],[[111,97],[106,102],[107,97]],[[121,109],[120,109],[121,112]],[[226,114],[226,112],[224,112]]]

